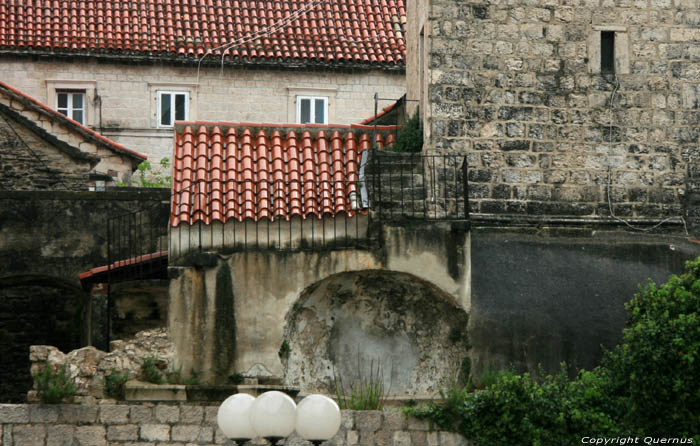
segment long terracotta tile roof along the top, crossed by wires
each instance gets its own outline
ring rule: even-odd
[[[3,0],[0,50],[403,66],[405,23],[404,0]]]

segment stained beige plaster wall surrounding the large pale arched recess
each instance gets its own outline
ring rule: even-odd
[[[388,240],[404,229],[384,226],[382,231],[381,237]],[[433,231],[449,235],[433,237]],[[341,272],[405,272],[434,284],[466,311],[466,230],[431,223],[405,230],[404,236],[404,250],[388,249],[383,243],[373,250],[250,250],[228,256],[203,254],[191,259],[195,266],[172,268],[177,277],[170,284],[169,327],[183,369],[201,370],[203,379],[210,382],[225,382],[234,372],[282,378],[278,352],[285,317],[307,287]],[[456,268],[433,275],[424,263],[425,256],[452,259]],[[401,260],[403,257],[415,261]]]

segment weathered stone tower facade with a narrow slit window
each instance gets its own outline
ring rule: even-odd
[[[473,216],[696,221],[698,1],[426,3],[408,96],[427,150],[468,154]]]

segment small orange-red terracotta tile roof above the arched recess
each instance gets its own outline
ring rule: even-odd
[[[170,223],[352,216],[373,129],[178,123]],[[378,127],[377,147],[391,145],[395,130]]]

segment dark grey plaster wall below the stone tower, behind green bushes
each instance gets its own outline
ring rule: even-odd
[[[622,336],[624,303],[649,279],[683,271],[683,237],[576,228],[472,230],[472,364],[548,373],[590,369]]]

